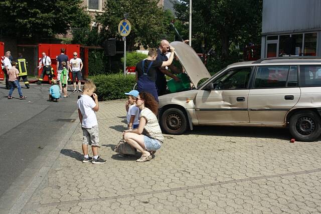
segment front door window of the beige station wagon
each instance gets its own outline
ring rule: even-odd
[[[225,75],[213,82],[216,90],[246,89],[252,67],[228,70]]]

